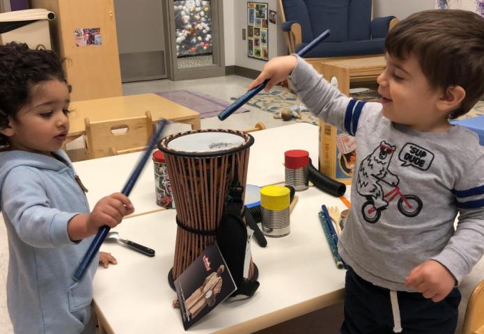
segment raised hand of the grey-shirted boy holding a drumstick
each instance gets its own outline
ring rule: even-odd
[[[294,67],[297,64],[296,56],[281,56],[272,58],[267,64],[265,64],[263,71],[259,76],[251,82],[249,90],[256,88],[262,84],[265,79],[270,79],[265,86],[265,91],[268,92],[275,84],[286,79],[291,74]]]

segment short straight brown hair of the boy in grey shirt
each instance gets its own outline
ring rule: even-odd
[[[385,49],[404,60],[414,54],[434,89],[465,89],[450,119],[464,115],[484,93],[484,19],[467,10],[424,10],[389,31]]]

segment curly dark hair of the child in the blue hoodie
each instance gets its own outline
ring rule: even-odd
[[[17,119],[18,111],[29,102],[33,85],[52,79],[68,84],[62,63],[42,45],[36,49],[17,42],[0,45],[0,129],[8,126],[9,117]],[[0,134],[0,148],[8,145],[8,137]]]

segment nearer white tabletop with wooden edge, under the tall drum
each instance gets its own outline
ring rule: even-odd
[[[189,329],[191,333],[252,333],[343,299],[345,270],[336,269],[318,212],[324,203],[345,209],[338,198],[310,188],[297,192],[291,232],[267,238],[267,247],[251,243],[260,287],[247,301],[221,303]],[[185,333],[175,292],[167,276],[175,250],[175,210],[126,219],[120,237],[155,249],[147,257],[118,244],[103,244],[118,264],[100,268],[94,300],[114,333]]]

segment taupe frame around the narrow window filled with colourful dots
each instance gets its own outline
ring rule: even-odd
[[[225,75],[224,48],[224,6],[223,0],[211,0],[212,10],[212,40],[213,65],[207,67],[178,68],[175,42],[175,10],[174,0],[163,1],[164,38],[166,54],[166,75],[170,80],[187,80]]]

